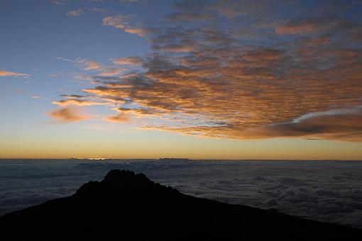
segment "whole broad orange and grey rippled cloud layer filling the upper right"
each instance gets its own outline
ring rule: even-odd
[[[126,100],[128,118],[152,118],[143,130],[360,141],[362,23],[348,17],[351,3],[323,4],[181,1],[162,24],[140,28],[106,16],[104,26],[147,36],[153,53],[112,58],[122,69],[77,60],[99,71],[81,91]]]

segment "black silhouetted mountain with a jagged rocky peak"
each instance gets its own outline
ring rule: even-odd
[[[125,170],[6,214],[0,229],[0,240],[362,239],[362,230],[187,196]]]

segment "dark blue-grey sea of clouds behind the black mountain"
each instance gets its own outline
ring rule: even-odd
[[[192,196],[362,228],[362,162],[1,159],[0,215],[70,196],[111,169]]]

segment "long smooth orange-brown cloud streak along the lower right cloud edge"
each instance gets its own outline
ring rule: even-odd
[[[241,140],[265,138],[306,138],[327,140],[362,141],[362,107],[309,113],[290,122],[263,125],[257,128],[238,130],[228,125],[213,128],[207,126],[171,128],[168,126],[147,126],[145,130],[165,130],[186,135],[206,135],[212,138]],[[225,135],[227,133],[227,135]]]

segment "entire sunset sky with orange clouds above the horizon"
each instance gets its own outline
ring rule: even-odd
[[[362,159],[362,1],[1,1],[1,158]]]

